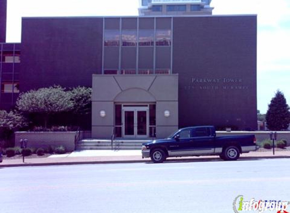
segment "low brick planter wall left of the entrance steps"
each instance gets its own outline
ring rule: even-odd
[[[15,132],[15,146],[21,146],[20,139],[27,139],[27,147],[47,148],[65,147],[66,151],[75,150],[77,132]]]

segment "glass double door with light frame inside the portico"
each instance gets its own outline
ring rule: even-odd
[[[148,137],[148,108],[123,108],[123,137]]]

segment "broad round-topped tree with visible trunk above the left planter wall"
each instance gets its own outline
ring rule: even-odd
[[[16,108],[25,114],[37,114],[44,119],[45,128],[51,115],[69,112],[73,101],[69,92],[61,86],[51,86],[21,93]]]

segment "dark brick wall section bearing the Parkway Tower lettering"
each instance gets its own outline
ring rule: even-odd
[[[176,17],[173,23],[179,125],[257,129],[257,17]]]

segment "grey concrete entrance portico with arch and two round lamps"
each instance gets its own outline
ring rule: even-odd
[[[162,138],[176,129],[178,75],[93,75],[92,137]]]

